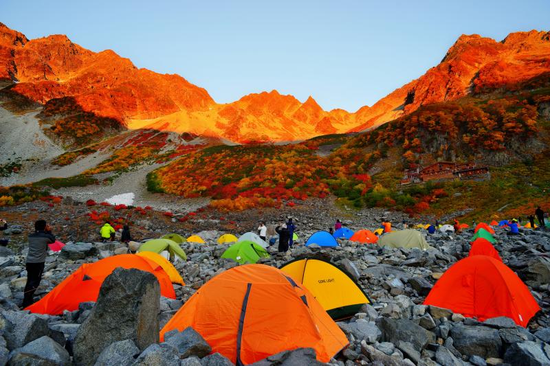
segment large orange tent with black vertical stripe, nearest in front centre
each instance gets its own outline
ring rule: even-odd
[[[348,340],[313,295],[278,268],[246,264],[210,279],[160,332],[192,327],[236,365],[311,347],[329,362]]]

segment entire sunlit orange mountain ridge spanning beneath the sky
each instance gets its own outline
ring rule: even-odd
[[[84,111],[129,128],[159,128],[237,142],[287,141],[379,126],[419,106],[467,93],[514,89],[550,72],[550,34],[518,32],[502,42],[461,36],[437,67],[355,113],[323,111],[277,91],[217,104],[205,89],[177,75],[137,69],[114,52],[91,52],[54,35],[29,41],[0,23],[0,80],[36,102],[73,97]]]

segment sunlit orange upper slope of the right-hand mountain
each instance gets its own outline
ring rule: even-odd
[[[436,67],[393,91],[372,108],[358,111],[362,124],[352,131],[380,126],[420,106],[456,100],[470,93],[516,86],[550,72],[550,32],[516,32],[502,42],[477,34],[461,36]]]

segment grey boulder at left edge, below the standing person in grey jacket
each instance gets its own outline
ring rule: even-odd
[[[8,329],[8,332],[4,333],[8,350],[23,347],[41,336],[48,335],[47,321],[34,314],[9,310],[3,312],[3,318],[0,322],[3,322]]]

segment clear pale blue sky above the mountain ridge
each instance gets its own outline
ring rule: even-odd
[[[217,102],[277,89],[355,111],[437,65],[461,34],[550,30],[550,1],[1,0],[0,21],[178,73]]]

